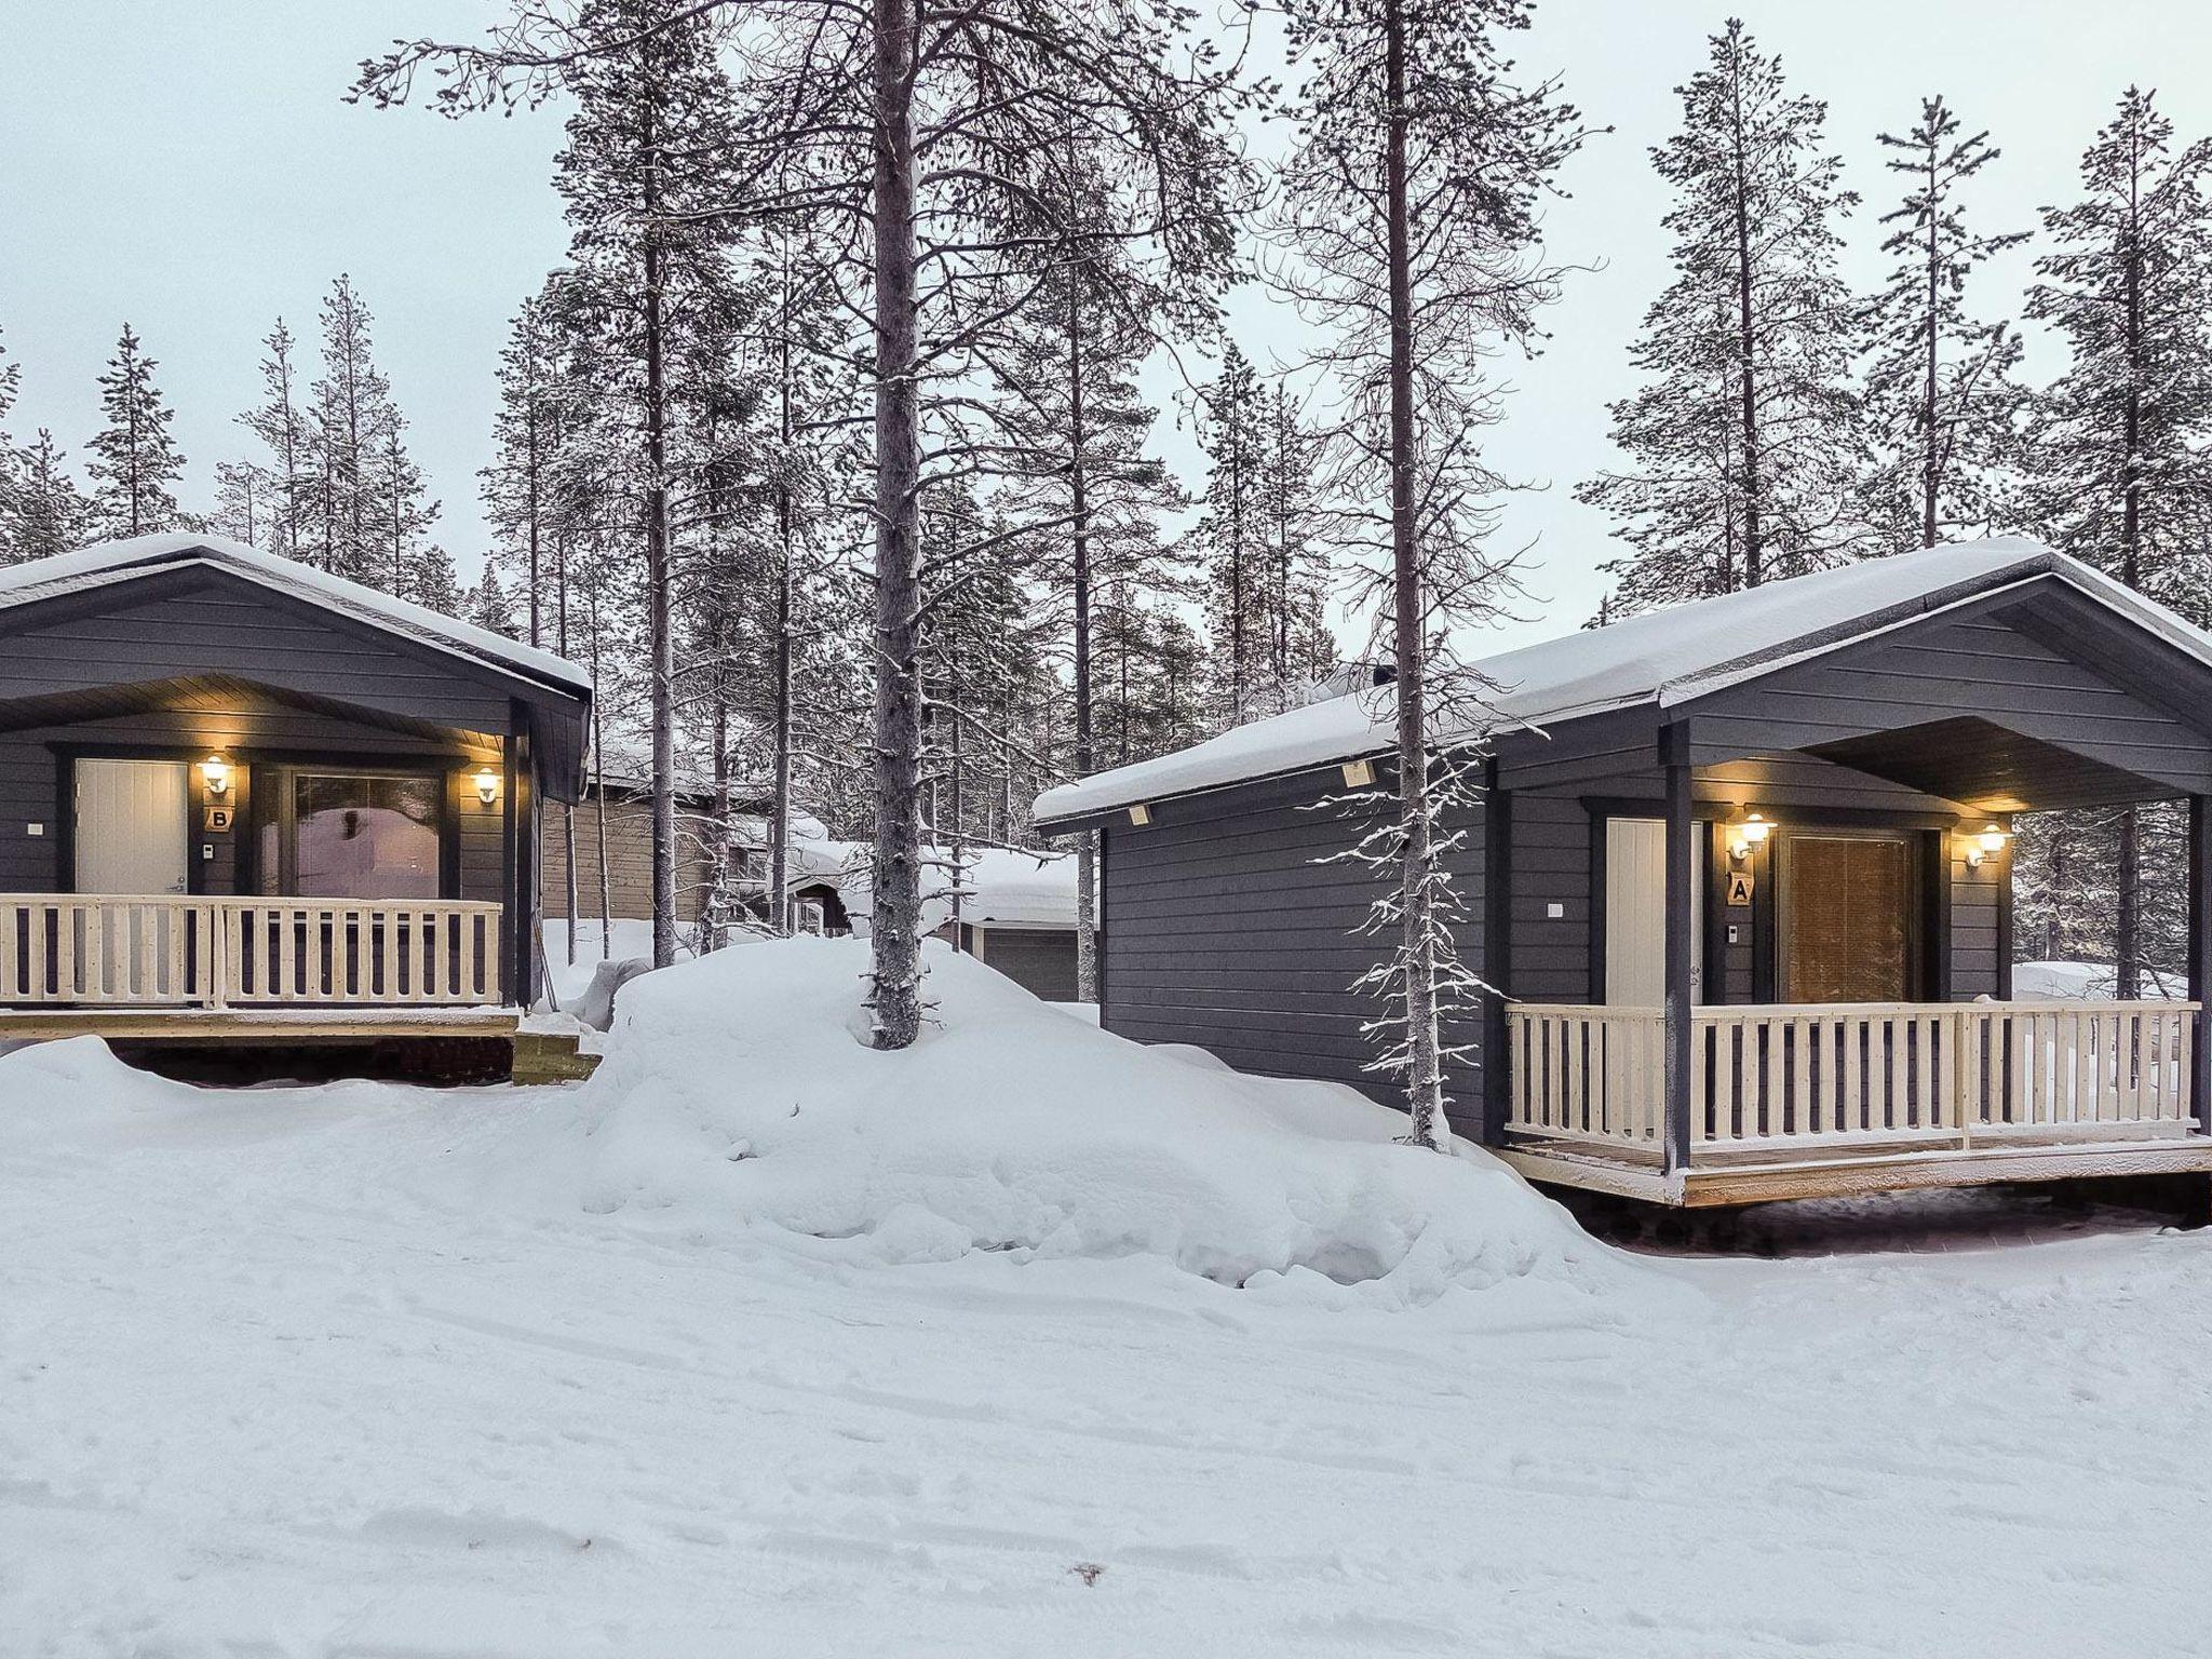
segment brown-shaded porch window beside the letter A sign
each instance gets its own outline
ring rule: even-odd
[[[1783,1002],[1905,1002],[1913,858],[1905,836],[1783,836]]]

